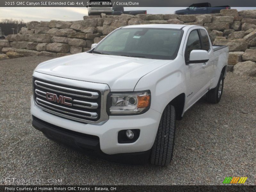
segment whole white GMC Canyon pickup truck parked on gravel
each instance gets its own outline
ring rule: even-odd
[[[228,47],[204,27],[130,25],[88,52],[45,61],[33,73],[33,126],[89,155],[168,165],[175,121],[206,94],[220,101]]]

